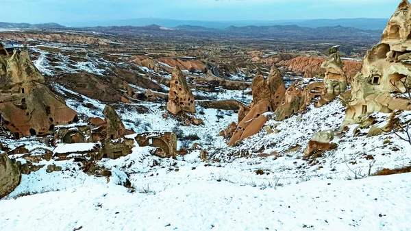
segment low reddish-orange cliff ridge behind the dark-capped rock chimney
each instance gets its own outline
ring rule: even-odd
[[[315,75],[323,75],[325,73],[325,69],[321,67],[321,64],[323,64],[325,60],[326,58],[321,57],[300,56],[292,60],[279,62],[277,66],[287,66],[289,71],[303,72],[304,77],[314,77]],[[343,66],[343,71],[346,73],[347,79],[351,81],[354,75],[361,70],[362,62],[343,60]]]

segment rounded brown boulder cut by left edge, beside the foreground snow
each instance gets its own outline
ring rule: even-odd
[[[0,154],[0,199],[9,195],[20,184],[21,172],[15,160]]]

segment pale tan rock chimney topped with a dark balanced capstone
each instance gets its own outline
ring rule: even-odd
[[[347,89],[347,77],[343,71],[343,62],[338,54],[338,46],[328,50],[329,58],[321,64],[325,69],[324,85],[328,94],[340,95]]]

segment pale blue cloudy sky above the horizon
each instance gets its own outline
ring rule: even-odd
[[[0,0],[0,21],[62,23],[155,16],[237,21],[389,18],[400,0]]]

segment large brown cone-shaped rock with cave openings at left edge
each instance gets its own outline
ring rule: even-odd
[[[78,120],[77,112],[44,82],[27,51],[14,51],[10,58],[0,58],[0,112],[16,138],[51,134],[55,125]]]

